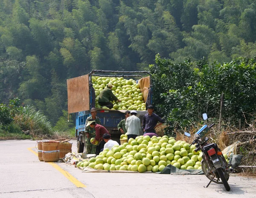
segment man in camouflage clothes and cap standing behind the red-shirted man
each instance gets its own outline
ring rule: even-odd
[[[97,124],[101,124],[99,117],[96,116],[97,115],[96,108],[94,108],[94,107],[91,108],[90,113],[91,113],[91,116],[89,116],[86,119],[85,126],[87,125],[89,119],[93,119]],[[93,145],[90,143],[90,139],[95,138],[95,136],[96,136],[95,129],[93,129],[89,126],[86,126],[84,135],[85,135],[85,146],[86,146],[85,153],[86,154],[95,154],[96,153],[96,145]]]

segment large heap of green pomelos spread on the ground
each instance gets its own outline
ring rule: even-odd
[[[89,166],[102,170],[129,170],[138,172],[162,171],[168,164],[179,169],[201,169],[202,153],[195,152],[185,141],[174,138],[138,136],[128,143],[104,149],[96,158],[79,162],[77,166]]]

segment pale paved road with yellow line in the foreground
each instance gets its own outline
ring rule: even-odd
[[[35,144],[0,141],[0,198],[256,198],[256,179],[232,175],[227,192],[221,184],[204,188],[204,175],[83,173],[73,165],[38,161],[28,149]]]

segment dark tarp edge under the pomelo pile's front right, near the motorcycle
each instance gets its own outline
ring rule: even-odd
[[[201,169],[189,169],[182,170],[178,169],[171,164],[168,164],[159,174],[172,174],[172,175],[202,175],[204,172]]]

